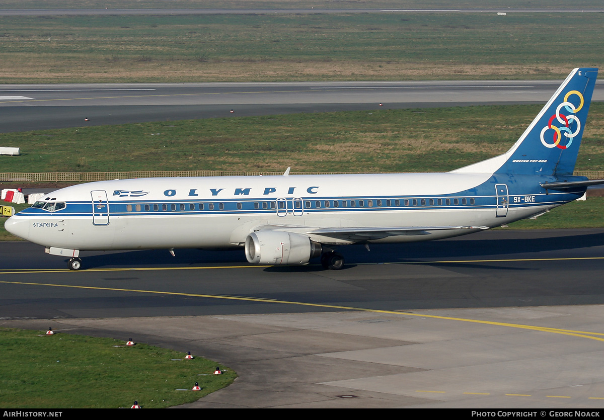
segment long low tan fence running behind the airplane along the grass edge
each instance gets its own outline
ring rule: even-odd
[[[359,172],[291,172],[292,175],[358,174]],[[185,176],[254,176],[282,175],[283,172],[245,171],[134,171],[134,172],[47,172],[47,173],[0,173],[0,181],[19,182],[89,182],[111,179],[185,177]],[[604,171],[574,171],[576,176],[603,179]]]

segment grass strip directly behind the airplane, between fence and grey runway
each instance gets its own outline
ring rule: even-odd
[[[0,134],[21,156],[2,172],[449,171],[503,153],[540,105],[170,121]],[[604,103],[593,103],[577,170],[604,170]]]

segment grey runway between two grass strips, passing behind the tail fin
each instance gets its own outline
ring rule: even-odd
[[[380,107],[545,103],[560,83],[481,80],[5,84],[0,86],[0,132]],[[604,101],[604,82],[597,82],[593,100]]]

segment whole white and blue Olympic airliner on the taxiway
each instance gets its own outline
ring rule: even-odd
[[[573,176],[597,77],[570,72],[506,153],[447,173],[121,179],[62,188],[5,228],[82,267],[86,250],[245,250],[252,264],[344,267],[335,248],[466,235],[579,199]]]

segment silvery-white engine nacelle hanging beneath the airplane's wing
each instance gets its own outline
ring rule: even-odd
[[[306,264],[321,255],[321,244],[284,231],[252,232],[245,238],[245,258],[252,264]]]

